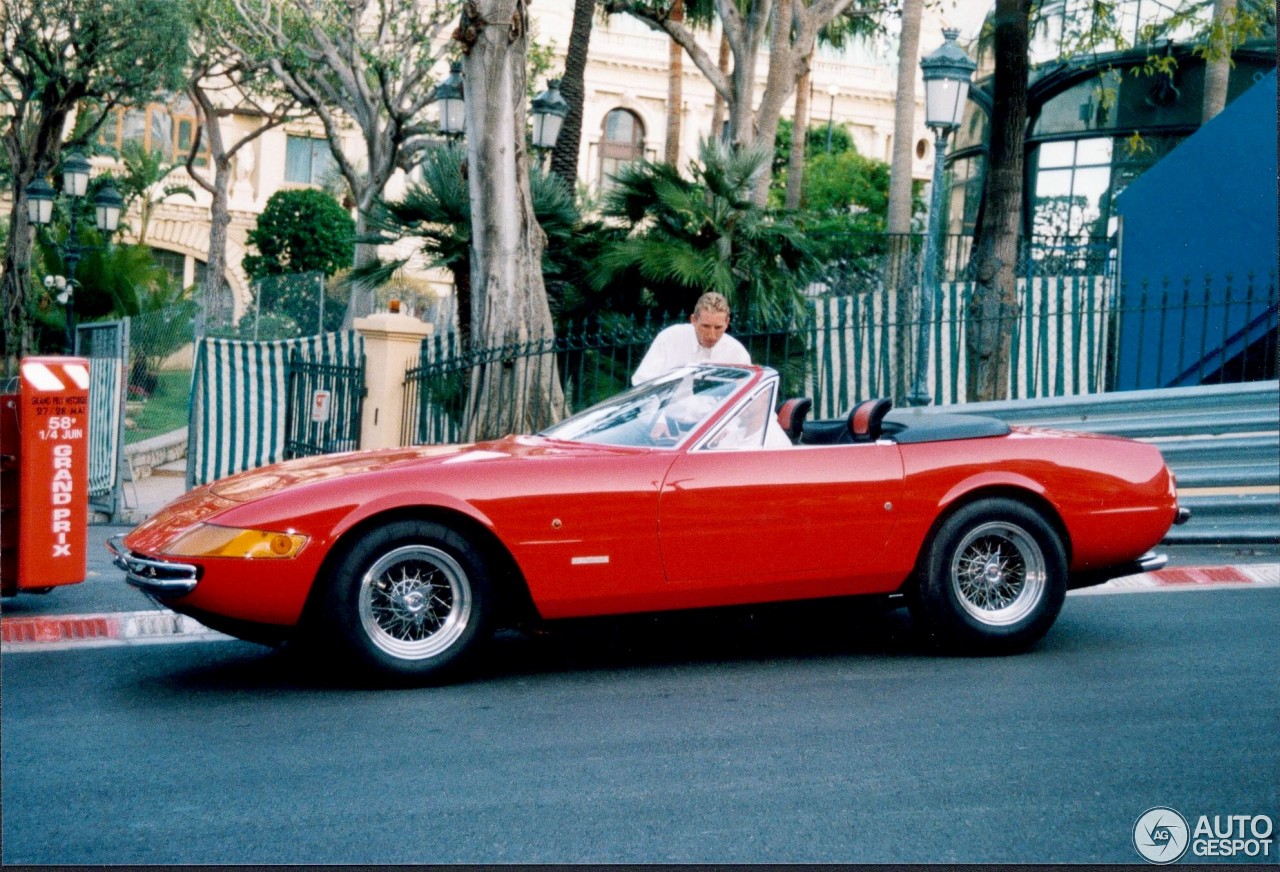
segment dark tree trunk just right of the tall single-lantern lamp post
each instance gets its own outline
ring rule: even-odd
[[[1018,238],[1027,140],[1030,0],[997,0],[996,70],[983,207],[974,233],[974,289],[968,305],[970,402],[1009,396],[1010,343],[1016,324]]]

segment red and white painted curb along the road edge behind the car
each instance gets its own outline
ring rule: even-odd
[[[1070,595],[1222,588],[1280,588],[1280,563],[1164,569],[1073,590]],[[230,639],[168,610],[0,618],[0,652],[4,653]]]

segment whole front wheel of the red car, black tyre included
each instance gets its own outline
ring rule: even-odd
[[[339,662],[398,682],[454,675],[488,638],[495,611],[484,557],[457,531],[429,521],[370,530],[324,584],[315,629]]]

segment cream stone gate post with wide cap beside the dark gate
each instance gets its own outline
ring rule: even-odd
[[[417,362],[422,339],[435,328],[398,312],[357,318],[355,328],[365,338],[365,388],[369,391],[360,421],[360,447],[397,447],[404,415],[404,371]]]

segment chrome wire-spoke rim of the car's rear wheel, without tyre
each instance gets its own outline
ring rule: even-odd
[[[1027,617],[1046,586],[1044,553],[1034,538],[1006,521],[980,524],[952,552],[950,577],[960,607],[991,626]]]

